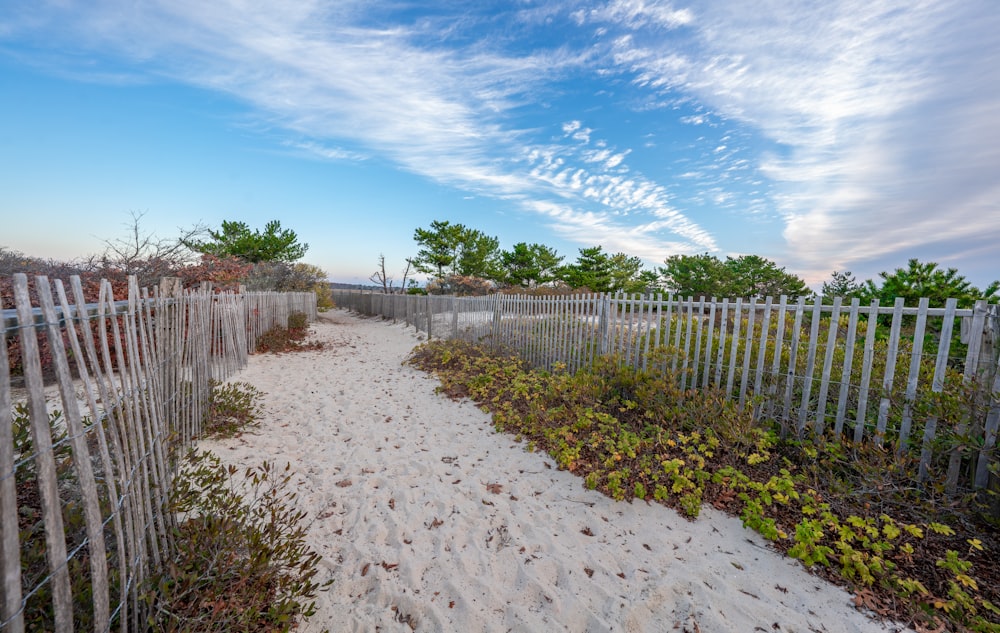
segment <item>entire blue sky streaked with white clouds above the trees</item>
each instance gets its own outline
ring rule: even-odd
[[[432,7],[432,8],[428,8]],[[1000,277],[992,0],[0,6],[0,246],[272,219],[398,280],[433,220],[567,261]],[[398,272],[397,272],[398,269]]]

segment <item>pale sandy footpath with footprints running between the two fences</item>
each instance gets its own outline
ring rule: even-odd
[[[262,426],[228,462],[290,462],[330,631],[889,631],[711,507],[615,502],[401,362],[412,329],[336,311],[322,351],[253,356]],[[325,579],[324,578],[324,579]]]

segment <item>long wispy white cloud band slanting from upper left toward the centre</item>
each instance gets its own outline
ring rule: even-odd
[[[97,8],[60,11],[53,18],[80,46],[110,49],[151,72],[230,93],[272,126],[294,132],[290,143],[316,156],[342,161],[377,154],[533,212],[555,196],[591,209],[593,217],[648,216],[655,222],[638,228],[631,221],[595,224],[584,212],[562,214],[559,223],[565,229],[577,222],[563,233],[585,243],[607,242],[612,233],[641,236],[639,250],[657,260],[675,247],[714,248],[711,235],[669,205],[662,187],[624,175],[631,150],[590,144],[593,131],[580,121],[564,128],[577,145],[555,150],[567,161],[564,169],[524,161],[551,148],[512,125],[510,111],[535,98],[545,81],[579,70],[593,54],[586,48],[506,54],[488,41],[462,42],[454,15],[400,23],[360,2],[105,0]],[[685,11],[642,2],[617,2],[599,12],[636,26],[672,28],[690,20]],[[541,23],[542,17],[517,19]],[[476,26],[469,12],[457,19],[464,29]],[[670,234],[681,238],[680,246]]]

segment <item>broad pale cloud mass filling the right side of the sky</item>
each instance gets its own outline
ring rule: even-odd
[[[1000,13],[957,1],[698,4],[674,38],[612,11],[590,17],[628,31],[615,59],[636,85],[693,95],[783,148],[757,160],[775,183],[787,263],[816,278],[942,240],[1000,240],[1000,185],[987,175],[1000,164]]]

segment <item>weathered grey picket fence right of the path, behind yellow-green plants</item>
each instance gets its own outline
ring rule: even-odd
[[[950,492],[988,486],[996,468],[1000,315],[986,302],[358,291],[333,299],[428,336],[514,350],[549,370],[575,371],[605,355],[669,369],[681,387],[722,389],[784,433],[919,454],[919,477],[934,474]]]

